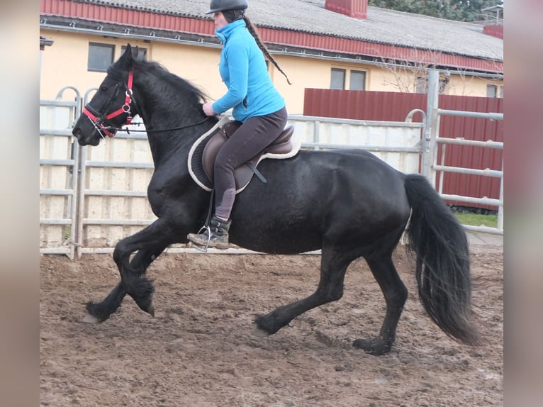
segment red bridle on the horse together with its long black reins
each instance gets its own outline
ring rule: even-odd
[[[208,121],[212,116],[206,116],[201,121],[198,121],[197,123],[192,123],[186,126],[179,126],[175,128],[164,128],[164,129],[147,129],[147,130],[128,130],[128,128],[121,128],[118,126],[115,126],[113,123],[111,123],[112,118],[116,118],[117,116],[121,116],[121,114],[126,114],[126,120],[125,123],[123,123],[121,126],[128,125],[132,123],[132,114],[130,112],[130,103],[135,103],[135,100],[133,99],[133,93],[132,93],[132,84],[134,80],[134,69],[130,69],[128,72],[128,82],[125,84],[123,81],[117,82],[115,85],[116,89],[111,98],[108,100],[108,103],[106,104],[106,108],[104,111],[108,111],[111,107],[111,104],[113,104],[113,101],[116,99],[119,89],[121,89],[121,85],[125,87],[125,103],[121,108],[117,109],[116,111],[113,111],[106,115],[106,113],[98,113],[96,109],[94,109],[90,103],[86,104],[83,108],[83,114],[89,118],[91,123],[93,124],[94,128],[101,134],[102,138],[105,138],[104,135],[107,135],[109,138],[113,138],[118,131],[125,131],[126,133],[133,132],[140,132],[140,133],[151,133],[151,132],[160,132],[160,131],[171,131],[171,130],[181,130],[184,128],[189,128],[192,126],[198,126],[198,124],[204,123],[205,121]],[[140,124],[140,123],[133,123],[133,124]],[[105,125],[105,126],[104,126]]]

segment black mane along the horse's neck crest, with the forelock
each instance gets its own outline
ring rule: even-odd
[[[123,75],[125,69],[119,69],[118,63],[119,61],[114,62],[113,65],[108,68],[108,75],[111,75],[112,77],[121,77]],[[172,89],[179,89],[180,92],[188,95],[189,99],[194,100],[194,103],[201,103],[208,100],[207,94],[202,89],[191,84],[191,82],[186,79],[178,77],[176,74],[172,74],[172,72],[169,72],[166,67],[160,65],[158,62],[133,60],[132,63],[135,71],[155,74],[155,76],[168,82]]]

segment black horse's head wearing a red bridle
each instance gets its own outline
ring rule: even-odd
[[[119,60],[108,68],[96,94],[85,105],[72,134],[79,145],[99,145],[100,139],[113,137],[135,115],[132,98],[133,62],[138,48],[127,45]]]

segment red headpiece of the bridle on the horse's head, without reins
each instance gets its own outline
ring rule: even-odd
[[[113,123],[111,123],[112,118],[116,118],[117,116],[121,116],[121,114],[126,113],[126,120],[125,123],[121,126],[128,125],[132,123],[132,115],[130,112],[130,103],[133,101],[132,97],[132,84],[134,80],[134,69],[130,69],[130,72],[128,72],[128,84],[125,84],[122,81],[117,82],[115,85],[116,89],[111,98],[109,99],[108,103],[106,104],[105,111],[108,111],[111,104],[113,104],[113,101],[116,99],[119,89],[121,89],[121,84],[125,87],[125,103],[121,108],[117,109],[116,111],[113,111],[109,113],[106,116],[106,113],[97,113],[96,109],[91,107],[91,104],[86,104],[83,108],[83,113],[86,117],[89,118],[91,123],[93,124],[94,128],[98,130],[98,132],[102,135],[103,138],[104,134],[107,135],[109,138],[112,138],[114,135],[116,135],[118,130],[122,130],[121,128],[118,128],[117,126],[113,126]],[[106,124],[106,126],[104,126]]]

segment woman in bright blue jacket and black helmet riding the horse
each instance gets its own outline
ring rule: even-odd
[[[234,170],[273,143],[287,121],[284,98],[271,82],[264,55],[285,77],[286,74],[245,16],[247,6],[247,0],[211,0],[210,10],[206,12],[213,13],[215,35],[223,42],[219,73],[228,91],[214,103],[203,104],[203,112],[215,116],[233,108],[232,115],[242,126],[228,138],[215,159],[211,236],[208,229],[187,236],[199,246],[228,247],[230,212],[235,200]]]

